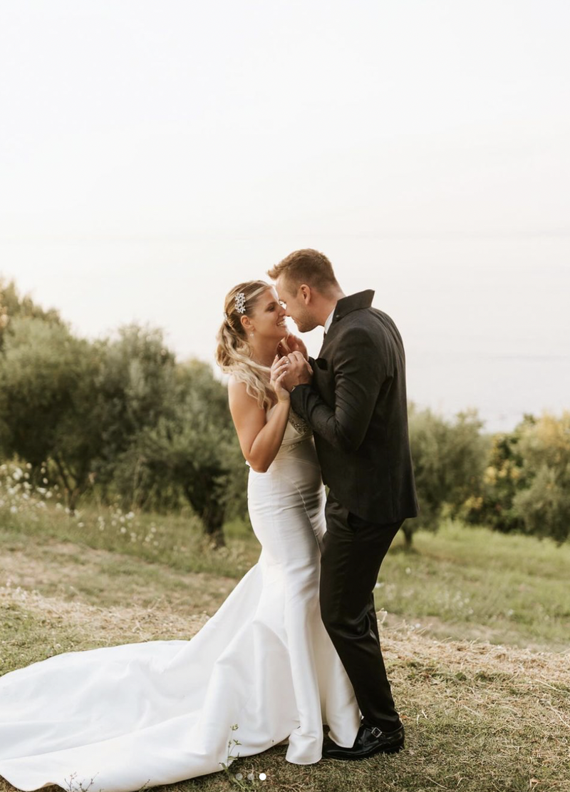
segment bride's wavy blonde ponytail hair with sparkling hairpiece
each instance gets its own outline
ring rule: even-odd
[[[257,400],[262,409],[274,402],[270,388],[270,368],[253,360],[247,330],[241,323],[242,316],[251,316],[259,297],[270,288],[265,280],[247,280],[234,286],[225,295],[225,319],[217,331],[216,363],[225,374],[232,374],[240,383],[245,383],[247,393]],[[243,294],[236,305],[236,297]],[[242,307],[245,310],[237,310]]]

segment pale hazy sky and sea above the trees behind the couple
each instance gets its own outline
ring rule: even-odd
[[[570,407],[570,7],[2,0],[0,276],[213,360],[298,247],[402,330],[410,398]],[[318,352],[316,333],[309,338]]]

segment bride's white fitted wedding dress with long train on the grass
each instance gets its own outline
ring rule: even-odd
[[[323,500],[311,432],[292,415],[270,469],[249,474],[259,562],[190,641],[68,652],[2,676],[0,775],[21,790],[131,792],[220,771],[234,738],[229,763],[286,738],[289,762],[317,762],[323,723],[352,746],[360,712],[319,614]]]

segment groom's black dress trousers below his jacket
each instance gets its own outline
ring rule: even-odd
[[[403,520],[373,523],[349,512],[329,492],[321,558],[323,624],[353,684],[364,720],[383,731],[398,729],[380,649],[374,587],[380,565]]]

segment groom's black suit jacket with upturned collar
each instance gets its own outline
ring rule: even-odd
[[[330,487],[349,512],[376,523],[417,516],[402,337],[372,308],[374,291],[338,300],[311,385],[291,394],[293,410],[315,432]]]

